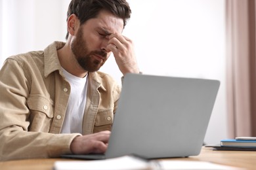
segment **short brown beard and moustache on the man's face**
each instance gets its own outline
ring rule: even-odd
[[[83,39],[83,31],[81,27],[77,31],[77,36],[71,42],[71,50],[77,60],[77,63],[89,72],[98,71],[107,59],[107,53],[104,50],[89,51],[87,42]],[[102,60],[95,59],[93,55],[102,56]]]

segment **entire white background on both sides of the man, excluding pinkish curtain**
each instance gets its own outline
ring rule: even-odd
[[[0,65],[13,54],[65,41],[70,0],[2,0]],[[205,143],[226,138],[224,0],[128,0],[133,10],[123,34],[135,42],[145,74],[221,80]],[[1,67],[1,66],[0,66]],[[114,58],[101,71],[120,82]]]

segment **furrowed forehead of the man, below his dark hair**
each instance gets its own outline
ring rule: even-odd
[[[85,27],[104,29],[108,33],[121,33],[123,31],[123,19],[114,16],[107,10],[101,10],[96,18],[85,22]]]

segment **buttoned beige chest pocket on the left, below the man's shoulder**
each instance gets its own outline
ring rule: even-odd
[[[53,101],[42,95],[30,95],[27,102],[30,109],[29,130],[49,132],[54,116]]]

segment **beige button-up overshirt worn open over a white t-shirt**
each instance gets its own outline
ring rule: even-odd
[[[79,133],[60,134],[70,84],[54,42],[44,51],[8,58],[0,71],[0,160],[49,158],[70,153]],[[104,73],[89,73],[83,135],[110,130],[121,87]]]

